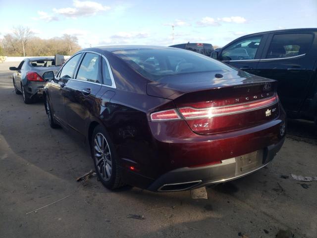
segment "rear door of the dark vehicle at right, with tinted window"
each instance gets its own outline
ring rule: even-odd
[[[312,84],[316,61],[313,40],[314,33],[309,32],[270,34],[258,64],[258,75],[278,80],[279,98],[289,112],[300,111]]]

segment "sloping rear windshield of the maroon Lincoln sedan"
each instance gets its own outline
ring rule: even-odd
[[[170,75],[227,72],[234,69],[207,56],[177,49],[139,49],[113,52],[144,77],[159,81]]]

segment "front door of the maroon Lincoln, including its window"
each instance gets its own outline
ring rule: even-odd
[[[61,68],[57,77],[53,79],[50,86],[50,103],[53,111],[54,118],[57,119],[64,127],[67,125],[65,114],[65,97],[69,96],[70,79],[73,77],[76,66],[82,56],[79,53],[70,58]]]

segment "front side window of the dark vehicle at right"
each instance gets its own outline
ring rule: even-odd
[[[262,36],[238,41],[223,49],[221,60],[254,60],[261,40]]]

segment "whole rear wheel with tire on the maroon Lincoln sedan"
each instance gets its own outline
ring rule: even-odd
[[[106,129],[101,125],[95,127],[91,138],[91,156],[98,179],[106,188],[115,189],[124,185],[121,170],[117,166],[114,145]]]

